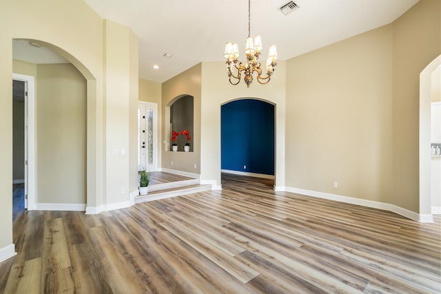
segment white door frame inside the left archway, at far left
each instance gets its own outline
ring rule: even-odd
[[[37,193],[35,189],[35,78],[25,74],[12,73],[12,79],[28,84],[28,94],[25,94],[25,191],[28,193],[28,210],[35,209]],[[27,172],[26,172],[27,170]]]

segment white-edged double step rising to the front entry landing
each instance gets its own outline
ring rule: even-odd
[[[167,182],[149,186],[149,192],[145,196],[136,196],[135,203],[149,202],[165,198],[187,195],[209,191],[212,185],[199,185],[199,180],[182,180],[178,182]]]

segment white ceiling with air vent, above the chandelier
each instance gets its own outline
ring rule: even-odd
[[[139,37],[139,77],[158,83],[201,61],[223,61],[228,41],[243,51],[248,36],[246,0],[84,1],[103,19],[132,29]],[[251,1],[251,34],[262,36],[264,59],[273,44],[279,59],[287,60],[386,25],[418,0],[296,0],[300,8],[285,15],[278,8],[287,2]],[[19,48],[42,49],[14,42],[14,55]],[[154,70],[153,65],[159,68]]]

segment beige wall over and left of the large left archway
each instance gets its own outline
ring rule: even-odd
[[[65,53],[65,58],[83,65],[83,74],[88,78],[94,76],[99,83],[103,67],[102,21],[83,1],[3,1],[1,6],[0,249],[10,248],[12,244],[12,39],[35,39],[54,44]],[[100,97],[99,88],[95,88],[95,100]]]

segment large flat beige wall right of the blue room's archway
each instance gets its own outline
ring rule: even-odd
[[[287,62],[288,187],[387,202],[392,36],[387,25]]]

